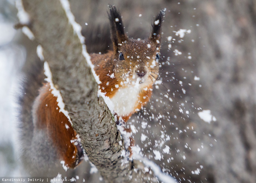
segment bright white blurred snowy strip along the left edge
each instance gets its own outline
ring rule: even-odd
[[[0,7],[0,176],[20,176],[13,89],[17,86],[26,50],[15,43],[21,32],[13,28],[17,21],[14,1],[1,1]]]

